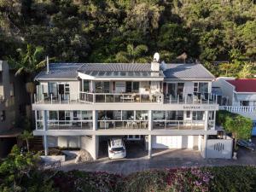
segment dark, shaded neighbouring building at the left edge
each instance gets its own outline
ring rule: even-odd
[[[26,116],[26,88],[15,77],[7,61],[0,61],[0,157],[9,153],[20,129],[15,126]]]

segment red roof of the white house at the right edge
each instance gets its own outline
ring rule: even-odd
[[[256,79],[227,80],[235,86],[236,92],[256,92]]]

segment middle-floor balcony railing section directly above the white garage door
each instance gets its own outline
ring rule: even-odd
[[[204,130],[203,120],[159,120],[153,121],[153,130]]]

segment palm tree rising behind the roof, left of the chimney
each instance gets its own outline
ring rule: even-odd
[[[148,47],[144,44],[139,44],[134,47],[133,44],[128,44],[126,51],[119,51],[115,55],[115,60],[118,62],[146,62],[147,58],[143,57],[145,53],[148,52]]]

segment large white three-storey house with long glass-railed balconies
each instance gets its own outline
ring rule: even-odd
[[[212,157],[207,150],[222,150],[221,140],[207,142],[218,135],[214,79],[201,64],[51,63],[35,78],[33,134],[44,137],[45,155],[74,147],[96,159],[99,141],[122,136],[144,140],[148,157],[152,148]]]

